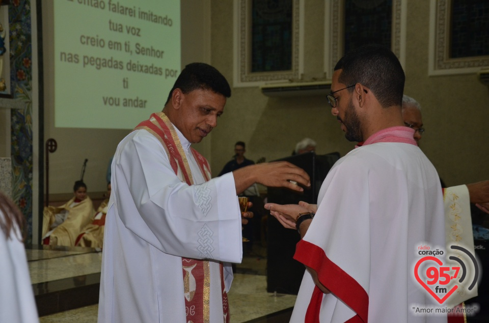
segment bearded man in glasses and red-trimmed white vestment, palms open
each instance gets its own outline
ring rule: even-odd
[[[414,278],[418,246],[445,245],[437,171],[404,126],[404,72],[387,48],[363,46],[335,67],[328,101],[346,139],[315,205],[266,204],[302,240],[306,266],[291,322],[446,322],[417,316],[435,305]],[[313,218],[313,219],[311,219]]]

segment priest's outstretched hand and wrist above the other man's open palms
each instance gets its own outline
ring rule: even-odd
[[[309,175],[304,169],[285,161],[242,167],[233,171],[233,176],[237,194],[253,183],[270,187],[286,187],[299,192],[304,191],[300,185],[311,186]]]

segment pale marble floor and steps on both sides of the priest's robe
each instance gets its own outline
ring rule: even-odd
[[[34,247],[26,249],[26,253],[41,323],[97,321],[101,252],[90,248]],[[290,317],[295,295],[266,291],[263,253],[263,248],[257,248],[237,265],[228,294],[233,323],[279,323]],[[82,303],[74,304],[69,298],[82,299]],[[56,302],[60,303],[59,308],[47,308]],[[88,306],[79,307],[80,304]]]

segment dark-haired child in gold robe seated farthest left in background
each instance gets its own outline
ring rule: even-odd
[[[95,212],[92,200],[87,196],[87,185],[76,181],[73,192],[73,198],[61,207],[44,208],[43,244],[73,247],[78,234],[92,221]]]

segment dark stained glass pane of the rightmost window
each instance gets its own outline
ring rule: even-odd
[[[452,0],[450,58],[489,55],[489,2]]]

